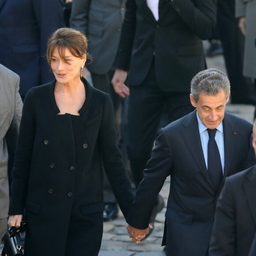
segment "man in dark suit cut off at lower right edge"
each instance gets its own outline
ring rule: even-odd
[[[256,120],[252,147],[256,154]],[[256,232],[255,198],[256,166],[226,178],[216,207],[210,256],[248,255]]]

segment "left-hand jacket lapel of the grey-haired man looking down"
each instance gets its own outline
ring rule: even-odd
[[[211,185],[214,189],[209,173],[207,171],[207,167],[205,164],[204,156],[203,156],[203,149],[202,143],[199,134],[198,122],[196,118],[196,109],[188,115],[188,117],[184,120],[184,127],[181,131],[184,141],[187,144],[187,147],[194,158],[196,165],[203,173],[206,181]]]

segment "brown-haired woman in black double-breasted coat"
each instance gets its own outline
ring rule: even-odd
[[[133,201],[117,147],[113,106],[108,94],[82,77],[86,58],[83,34],[56,30],[47,49],[56,79],[33,87],[25,98],[8,225],[20,225],[25,207],[28,256],[98,255],[102,165],[124,216]]]

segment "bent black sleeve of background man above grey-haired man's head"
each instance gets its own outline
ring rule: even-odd
[[[216,26],[216,0],[167,0],[181,19],[202,40],[211,37]]]

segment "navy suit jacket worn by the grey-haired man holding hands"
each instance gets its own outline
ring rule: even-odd
[[[225,113],[223,132],[225,167],[218,191],[207,172],[196,110],[162,128],[156,139],[126,221],[138,229],[147,228],[154,199],[170,175],[163,239],[168,256],[207,254],[215,206],[225,178],[247,166],[252,124]]]

